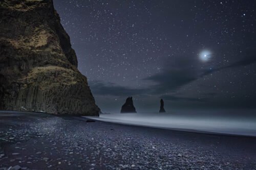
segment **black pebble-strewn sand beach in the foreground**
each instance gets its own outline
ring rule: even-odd
[[[256,138],[0,112],[0,169],[256,169]]]

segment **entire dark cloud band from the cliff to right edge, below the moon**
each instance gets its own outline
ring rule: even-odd
[[[193,81],[196,81],[204,76],[212,74],[213,72],[220,71],[227,68],[245,66],[256,62],[255,57],[245,58],[243,60],[231,63],[229,65],[205,70],[199,67],[199,63],[195,62],[195,58],[176,60],[175,65],[170,66],[169,69],[164,69],[162,72],[153,75],[151,77],[147,77],[142,80],[153,81],[156,85],[147,86],[144,88],[131,88],[125,86],[119,86],[114,83],[104,83],[101,81],[93,81],[90,82],[91,89],[94,94],[98,95],[113,95],[113,96],[130,96],[130,95],[147,95],[147,94],[155,94],[161,95],[165,92],[172,92],[180,87],[189,84]],[[190,67],[194,65],[194,67]],[[200,68],[200,69],[199,69]],[[206,99],[196,99],[196,98],[180,98],[177,96],[168,96],[163,95],[166,100],[178,101],[178,100],[186,100],[186,101],[205,101]]]

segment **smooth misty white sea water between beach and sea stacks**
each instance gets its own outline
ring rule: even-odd
[[[180,131],[256,136],[255,110],[176,110],[166,113],[110,113],[87,118]]]

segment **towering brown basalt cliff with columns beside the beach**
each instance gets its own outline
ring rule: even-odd
[[[51,0],[0,1],[0,110],[98,115]]]

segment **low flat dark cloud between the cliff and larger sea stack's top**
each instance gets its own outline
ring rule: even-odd
[[[101,81],[90,82],[90,87],[93,94],[98,95],[129,96],[147,93],[147,89],[129,88],[118,86],[114,83],[103,83]]]

